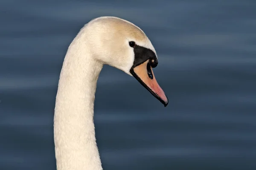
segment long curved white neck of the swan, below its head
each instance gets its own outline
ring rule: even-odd
[[[65,56],[56,96],[57,170],[102,170],[93,123],[96,84],[102,63],[76,39]]]

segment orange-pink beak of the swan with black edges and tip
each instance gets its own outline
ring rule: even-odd
[[[168,105],[168,98],[154,77],[149,59],[131,69],[131,74],[163,105]]]

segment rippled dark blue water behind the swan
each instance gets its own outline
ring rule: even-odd
[[[169,97],[164,108],[104,66],[94,117],[104,170],[256,169],[255,0],[1,0],[1,170],[56,169],[62,62],[80,28],[100,16],[143,29]]]

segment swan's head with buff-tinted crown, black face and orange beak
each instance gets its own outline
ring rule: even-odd
[[[117,17],[99,17],[84,29],[87,45],[97,60],[133,76],[164,106],[168,105],[152,70],[158,64],[157,53],[139,27]]]

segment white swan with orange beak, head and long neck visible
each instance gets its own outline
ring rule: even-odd
[[[118,17],[90,20],[70,43],[59,77],[54,110],[57,170],[102,170],[93,114],[104,64],[133,76],[168,105],[152,70],[158,64],[157,54],[145,33]]]

